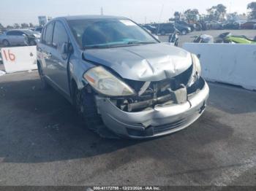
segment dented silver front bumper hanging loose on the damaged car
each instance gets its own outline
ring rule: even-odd
[[[145,139],[164,136],[187,128],[203,113],[209,95],[205,80],[202,88],[188,95],[184,104],[159,104],[141,112],[124,112],[110,98],[96,96],[97,109],[105,125],[119,136]]]

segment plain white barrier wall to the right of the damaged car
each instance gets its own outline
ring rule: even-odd
[[[256,90],[256,44],[194,44],[183,48],[200,55],[202,76]]]

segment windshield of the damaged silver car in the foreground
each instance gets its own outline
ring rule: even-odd
[[[82,49],[157,43],[131,20],[68,20],[68,24]]]

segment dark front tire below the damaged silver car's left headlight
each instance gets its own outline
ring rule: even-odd
[[[80,117],[82,117],[86,128],[94,131],[94,133],[99,133],[99,128],[102,127],[103,122],[102,118],[97,112],[94,94],[87,93],[85,89],[78,90],[78,88],[75,87],[75,93],[73,95],[75,109]]]

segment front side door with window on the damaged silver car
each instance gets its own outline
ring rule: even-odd
[[[61,50],[64,44],[69,43],[69,36],[66,28],[61,21],[56,21],[53,30],[53,51],[52,61],[54,65],[53,81],[61,88],[64,93],[69,94],[69,82],[67,76],[68,56],[62,55]]]

